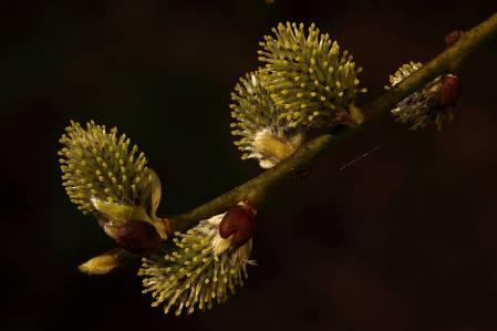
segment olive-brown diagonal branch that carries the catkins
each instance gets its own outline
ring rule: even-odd
[[[420,90],[438,75],[457,71],[468,55],[478,50],[480,46],[489,43],[496,37],[497,13],[464,33],[457,42],[423,65],[407,79],[403,80],[400,84],[395,85],[394,89],[389,90],[371,101],[363,102],[359,106],[367,110],[372,116],[379,116],[383,113],[387,113],[401,100]],[[300,170],[307,169],[308,166],[311,165],[322,153],[334,148],[341,141],[345,139],[356,131],[358,128],[344,128],[333,134],[324,134],[313,138],[302,145],[288,159],[280,162],[273,168],[266,170],[247,183],[199,207],[184,214],[169,217],[170,231],[186,231],[187,229],[196,226],[200,220],[225,213],[241,200],[249,200],[251,204],[260,206],[265,201],[265,196],[268,189],[279,184],[282,179],[289,177],[290,175],[298,174]],[[130,254],[122,248],[117,252],[114,250],[112,252],[113,255],[111,256],[115,256],[115,261],[113,261],[115,266],[128,265],[139,258],[139,256]],[[93,263],[92,267],[95,269],[93,273],[107,273],[110,271],[105,269],[108,267],[108,254],[104,254],[102,257],[105,257],[105,259],[99,259],[100,257],[96,257],[91,260],[97,262],[101,260],[105,261],[103,266]]]

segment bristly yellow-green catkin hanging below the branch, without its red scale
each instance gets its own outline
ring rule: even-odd
[[[165,313],[174,308],[176,314],[191,313],[196,307],[206,310],[244,285],[251,240],[235,247],[235,235],[222,238],[219,227],[225,216],[205,219],[186,234],[176,232],[175,247],[143,259],[138,275],[144,278],[143,292],[155,299],[153,307],[164,303]]]

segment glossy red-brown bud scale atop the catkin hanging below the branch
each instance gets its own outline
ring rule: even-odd
[[[222,217],[219,235],[230,238],[232,247],[239,247],[252,238],[256,229],[256,209],[246,203],[231,207]]]

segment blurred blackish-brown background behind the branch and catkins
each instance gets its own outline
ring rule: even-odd
[[[232,146],[229,93],[279,21],[331,32],[377,92],[400,64],[426,62],[445,34],[495,10],[495,0],[2,1],[0,329],[497,330],[495,44],[462,71],[442,132],[380,118],[270,195],[260,266],[208,313],[149,308],[133,270],[79,273],[114,244],[69,201],[56,162],[71,118],[116,125],[157,169],[162,214],[185,211],[260,173]]]

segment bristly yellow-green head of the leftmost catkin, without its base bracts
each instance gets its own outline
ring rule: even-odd
[[[62,179],[71,201],[83,213],[94,211],[92,197],[104,201],[139,205],[146,185],[154,179],[147,159],[131,147],[125,134],[117,128],[108,132],[93,121],[86,128],[71,122],[60,142]]]

